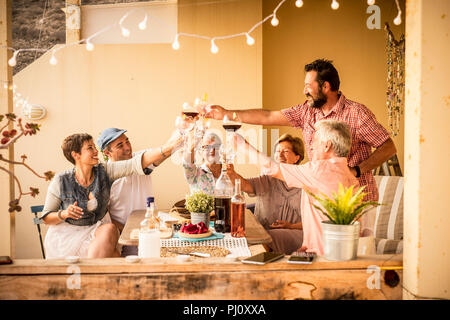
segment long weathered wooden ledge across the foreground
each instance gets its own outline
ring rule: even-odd
[[[402,299],[402,265],[402,255],[359,256],[342,262],[319,257],[310,265],[289,264],[285,257],[264,266],[226,258],[195,258],[188,263],[176,258],[138,263],[125,258],[81,259],[77,264],[18,259],[0,265],[0,300]],[[389,269],[400,280],[393,287],[384,280]]]

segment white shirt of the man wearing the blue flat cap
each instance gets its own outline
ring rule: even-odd
[[[142,150],[133,153],[143,153]],[[154,170],[151,164],[147,168]],[[153,197],[152,177],[150,175],[133,174],[114,181],[109,196],[109,212],[111,219],[125,225],[130,213],[135,210],[145,210],[147,197]]]

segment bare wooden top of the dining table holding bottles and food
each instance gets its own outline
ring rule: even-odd
[[[168,212],[168,210],[161,211]],[[144,220],[144,216],[145,210],[136,210],[130,214],[120,235],[119,244],[125,246],[137,246],[139,244],[139,240],[131,239],[130,235],[133,229],[139,228],[139,224]],[[245,234],[249,245],[270,243],[272,241],[270,235],[248,209],[245,210]]]

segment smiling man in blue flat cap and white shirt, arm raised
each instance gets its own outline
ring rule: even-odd
[[[150,174],[172,152],[180,146],[182,138],[178,132],[161,147],[142,150],[133,153],[130,140],[125,135],[127,130],[108,128],[102,131],[97,139],[100,150],[109,158],[109,161],[131,159],[141,152],[150,151],[158,156],[158,160],[144,169],[145,175],[131,175],[114,181],[111,187],[109,212],[112,222],[122,232],[130,213],[135,210],[145,210],[147,197],[153,196],[152,178]],[[122,256],[137,254],[136,246],[124,246]]]

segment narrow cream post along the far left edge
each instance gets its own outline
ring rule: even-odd
[[[12,57],[12,0],[0,0],[0,114],[13,112],[13,79],[12,67],[8,65],[8,60]],[[8,89],[4,89],[4,85]],[[12,129],[12,125],[9,129]],[[14,160],[14,145],[8,148],[8,159]],[[3,164],[1,164],[3,165]],[[10,172],[14,172],[14,165],[8,167]],[[9,201],[15,198],[14,179],[3,172],[0,177],[0,254],[15,256],[15,214],[9,213]]]

